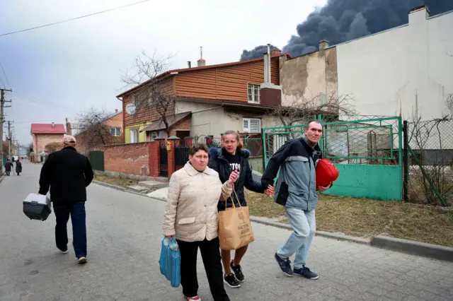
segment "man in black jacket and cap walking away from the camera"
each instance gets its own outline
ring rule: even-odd
[[[86,263],[86,187],[93,169],[86,156],[77,153],[76,138],[64,136],[63,149],[51,153],[41,169],[40,194],[50,187],[50,201],[57,218],[55,241],[62,254],[68,252],[67,223],[71,216],[74,252],[79,264]]]

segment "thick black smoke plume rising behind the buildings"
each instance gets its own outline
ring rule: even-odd
[[[282,51],[297,57],[318,49],[321,40],[337,45],[379,33],[408,23],[409,11],[424,4],[431,16],[453,10],[453,0],[328,0],[297,25],[297,35],[292,35]],[[241,61],[263,57],[266,47],[243,50]]]

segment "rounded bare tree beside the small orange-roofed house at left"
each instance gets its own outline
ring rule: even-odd
[[[77,142],[83,143],[88,149],[110,143],[110,127],[104,123],[107,118],[108,114],[94,107],[80,113],[72,127],[80,137]]]

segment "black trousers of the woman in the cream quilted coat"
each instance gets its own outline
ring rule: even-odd
[[[200,247],[207,281],[214,301],[229,301],[224,289],[224,276],[220,263],[219,237],[202,242],[182,242],[177,240],[181,255],[181,285],[186,297],[195,297],[198,291],[197,252]]]

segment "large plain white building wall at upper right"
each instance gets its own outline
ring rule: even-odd
[[[408,25],[336,47],[338,95],[350,95],[362,115],[411,120],[447,113],[453,93],[453,12],[429,17],[409,14]]]

